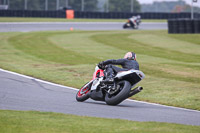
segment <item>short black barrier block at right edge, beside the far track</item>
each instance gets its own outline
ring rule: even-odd
[[[200,33],[200,19],[169,19],[168,33]]]

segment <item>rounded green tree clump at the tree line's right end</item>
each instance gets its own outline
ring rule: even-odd
[[[131,12],[132,0],[109,0],[110,12]],[[133,0],[133,12],[140,12],[141,6],[137,0]]]

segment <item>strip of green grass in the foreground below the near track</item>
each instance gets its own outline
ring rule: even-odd
[[[0,110],[1,133],[199,133],[200,126]]]

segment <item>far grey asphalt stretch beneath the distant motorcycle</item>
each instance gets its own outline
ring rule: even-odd
[[[74,30],[124,30],[122,22],[10,22],[0,23],[0,32],[69,31]],[[163,30],[167,23],[142,22],[139,30]],[[126,29],[132,30],[132,29]]]

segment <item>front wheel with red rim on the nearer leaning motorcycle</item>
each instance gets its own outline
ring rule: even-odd
[[[76,94],[76,100],[78,102],[83,102],[89,98],[89,92],[93,82],[86,83]]]

